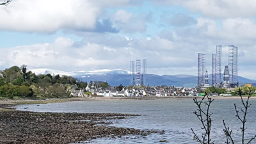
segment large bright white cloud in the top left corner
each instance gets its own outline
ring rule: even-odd
[[[99,22],[101,12],[133,3],[129,0],[16,0],[0,7],[0,30],[54,33],[60,29],[84,29],[116,33],[108,19]]]

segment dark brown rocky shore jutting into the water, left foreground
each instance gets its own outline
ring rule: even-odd
[[[12,106],[0,104],[0,108]],[[147,135],[151,131],[108,126],[108,120],[138,116],[115,113],[0,111],[0,143],[79,143],[105,136]]]

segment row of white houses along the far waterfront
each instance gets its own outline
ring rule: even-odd
[[[84,90],[76,90],[76,86],[67,88],[70,95],[74,97],[88,97],[92,95],[102,97],[167,97],[167,96],[196,96],[198,92],[196,88],[174,87],[174,86],[147,86],[141,88],[133,88],[131,86],[124,87],[121,91],[115,87],[110,88],[89,88]],[[86,95],[84,92],[90,92],[92,95]]]

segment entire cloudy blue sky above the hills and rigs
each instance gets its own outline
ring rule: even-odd
[[[0,0],[2,1],[2,0]],[[197,74],[197,53],[238,47],[238,75],[256,79],[254,0],[13,0],[0,6],[0,69],[124,69]]]

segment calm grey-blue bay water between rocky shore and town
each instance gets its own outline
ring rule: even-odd
[[[240,100],[214,100],[211,107],[212,115],[212,140],[215,143],[225,143],[223,122],[233,129],[236,141],[241,136],[240,123],[236,119],[234,103],[241,106]],[[250,100],[246,122],[246,138],[256,134],[256,100]],[[129,127],[136,129],[164,130],[164,134],[150,134],[149,136],[124,136],[122,138],[99,138],[85,141],[84,143],[196,143],[193,140],[191,128],[200,136],[199,121],[193,114],[196,106],[192,99],[156,99],[156,100],[109,100],[109,101],[79,101],[52,104],[37,104],[17,106],[19,110],[37,112],[77,112],[77,113],[133,113],[142,116],[132,116],[123,120],[113,120],[113,126]],[[24,109],[24,108],[28,109]],[[239,107],[240,108],[240,107]],[[252,143],[256,143],[256,140]]]

